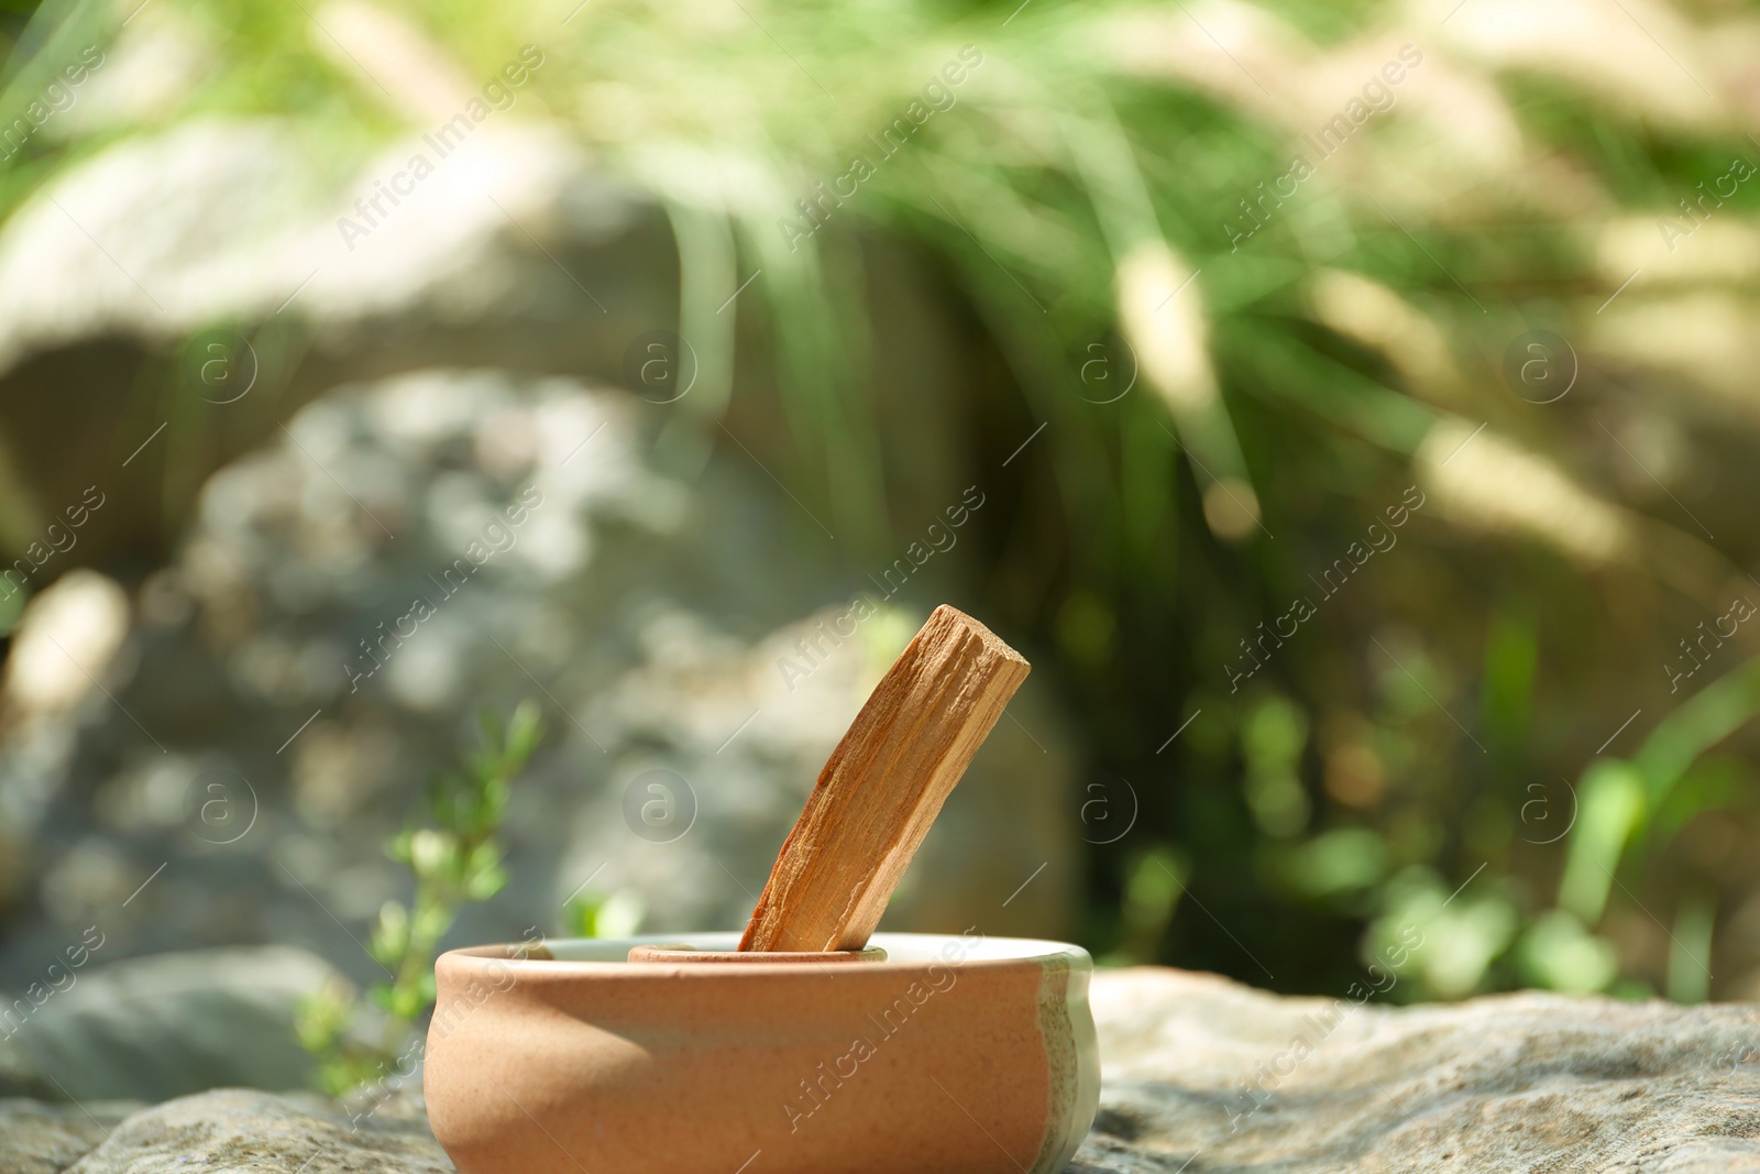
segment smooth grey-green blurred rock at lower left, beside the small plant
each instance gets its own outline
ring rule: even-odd
[[[324,959],[273,945],[106,966],[104,936],[84,942],[95,943],[90,970],[63,963],[0,1005],[0,1093],[164,1100],[216,1084],[310,1084],[294,1012],[336,975]]]

